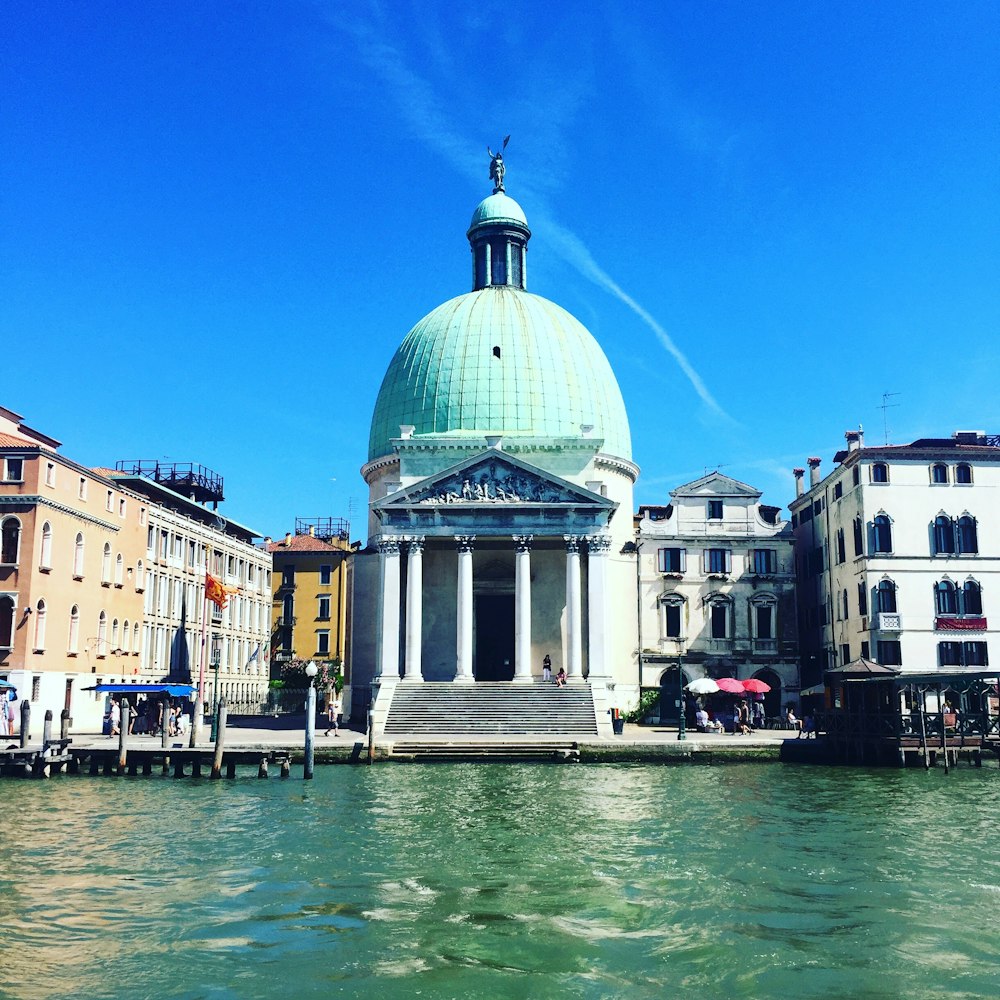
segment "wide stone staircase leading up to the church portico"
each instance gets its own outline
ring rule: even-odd
[[[558,742],[600,733],[589,684],[534,682],[455,684],[405,681],[382,685],[388,697],[381,736],[396,742],[449,739],[452,742]]]

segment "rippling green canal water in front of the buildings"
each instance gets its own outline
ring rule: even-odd
[[[0,784],[0,996],[987,997],[1000,771]]]

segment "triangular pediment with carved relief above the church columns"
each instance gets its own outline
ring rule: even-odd
[[[569,505],[613,510],[607,497],[491,449],[384,497],[375,507],[496,507]]]

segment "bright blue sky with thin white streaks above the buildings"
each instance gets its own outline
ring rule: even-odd
[[[1000,432],[1000,5],[4,5],[0,403],[351,516],[506,134],[529,287],[618,376],[636,503]]]

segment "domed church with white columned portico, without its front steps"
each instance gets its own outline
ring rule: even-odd
[[[593,336],[528,292],[527,219],[492,176],[472,291],[407,334],[372,418],[352,681],[376,734],[399,684],[528,685],[546,658],[599,731],[639,691],[625,405]]]

